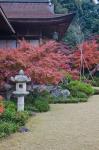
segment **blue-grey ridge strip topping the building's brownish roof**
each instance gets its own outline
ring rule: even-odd
[[[0,2],[32,2],[32,3],[47,3],[48,0],[0,0]]]

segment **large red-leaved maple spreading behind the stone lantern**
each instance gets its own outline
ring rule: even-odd
[[[19,48],[0,50],[0,84],[20,69],[35,83],[58,84],[66,72],[71,72],[66,50],[61,51],[59,43],[54,41],[39,47],[23,41]]]

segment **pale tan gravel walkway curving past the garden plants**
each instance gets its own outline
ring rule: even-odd
[[[87,103],[51,105],[27,127],[30,132],[0,141],[0,150],[99,150],[99,96]]]

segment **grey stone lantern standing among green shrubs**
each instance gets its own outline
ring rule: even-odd
[[[24,74],[23,70],[20,70],[18,75],[11,77],[11,81],[16,83],[16,91],[13,94],[17,97],[17,111],[24,111],[24,97],[29,94],[26,83],[31,79]]]

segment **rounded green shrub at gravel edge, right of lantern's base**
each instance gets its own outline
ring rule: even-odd
[[[35,107],[39,112],[47,112],[50,108],[47,100],[36,100]]]

